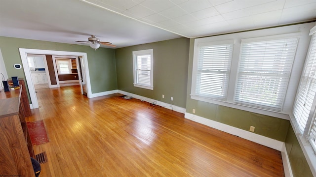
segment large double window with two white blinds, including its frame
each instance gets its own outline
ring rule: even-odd
[[[265,33],[195,39],[190,98],[288,119],[309,39],[301,32]]]

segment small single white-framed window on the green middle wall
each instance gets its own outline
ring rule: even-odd
[[[133,51],[134,87],[153,87],[153,49]]]

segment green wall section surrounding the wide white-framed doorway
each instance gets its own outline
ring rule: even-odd
[[[22,65],[19,48],[87,53],[92,93],[117,89],[114,49],[94,50],[89,46],[0,36],[0,49],[9,78],[25,78],[23,69],[13,68],[15,63]]]

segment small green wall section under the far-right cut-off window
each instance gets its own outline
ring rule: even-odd
[[[302,148],[295,136],[293,127],[289,125],[285,148],[290,160],[294,177],[313,177],[311,169],[306,161]]]

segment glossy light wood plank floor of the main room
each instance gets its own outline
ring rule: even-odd
[[[280,151],[119,94],[88,99],[79,86],[39,89],[49,143],[40,177],[284,177]]]

